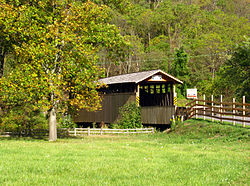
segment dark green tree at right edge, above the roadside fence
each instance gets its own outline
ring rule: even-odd
[[[216,93],[236,96],[241,99],[246,96],[250,100],[250,39],[237,45],[232,57],[221,67],[218,78],[214,82]]]

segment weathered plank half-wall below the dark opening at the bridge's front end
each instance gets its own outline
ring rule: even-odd
[[[141,120],[143,124],[170,124],[170,119],[174,114],[174,106],[149,106],[141,108]]]

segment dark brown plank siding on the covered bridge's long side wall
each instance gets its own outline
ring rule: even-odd
[[[112,93],[104,94],[102,100],[102,110],[96,112],[81,110],[74,118],[74,121],[76,123],[100,123],[102,121],[104,123],[113,123],[118,118],[119,108],[128,102],[135,101],[136,96],[135,93]]]

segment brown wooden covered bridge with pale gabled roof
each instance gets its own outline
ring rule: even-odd
[[[175,85],[183,83],[162,70],[123,74],[100,79],[100,82],[108,85],[99,90],[103,99],[102,110],[82,110],[75,122],[114,123],[119,108],[136,101],[141,106],[143,124],[169,124],[176,109]]]

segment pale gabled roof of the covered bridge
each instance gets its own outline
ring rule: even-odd
[[[139,83],[157,73],[161,73],[170,79],[176,81],[177,83],[183,84],[183,82],[174,76],[169,75],[168,73],[162,71],[162,70],[151,70],[151,71],[144,71],[144,72],[136,72],[131,74],[123,74],[118,76],[112,76],[100,79],[99,81],[101,83],[110,85],[110,84],[119,84],[119,83]]]

